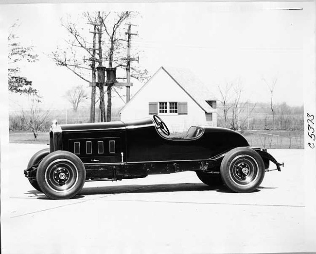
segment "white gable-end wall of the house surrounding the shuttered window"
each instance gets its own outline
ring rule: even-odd
[[[152,118],[149,115],[149,102],[187,102],[188,114],[159,114],[170,132],[184,132],[192,125],[216,126],[216,110],[212,114],[213,120],[206,121],[205,111],[196,104],[191,97],[163,70],[160,69],[148,81],[140,92],[121,111],[121,120]]]

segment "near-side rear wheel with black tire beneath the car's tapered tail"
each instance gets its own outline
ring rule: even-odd
[[[223,182],[234,192],[252,192],[264,178],[264,163],[258,152],[237,147],[229,151],[221,163]]]

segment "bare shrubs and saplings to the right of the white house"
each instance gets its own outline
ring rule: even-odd
[[[273,102],[277,77],[262,78],[268,87],[270,103],[252,103],[244,98],[240,79],[218,85],[219,105],[217,126],[232,130],[246,129],[303,129],[303,106],[290,107],[286,102]]]

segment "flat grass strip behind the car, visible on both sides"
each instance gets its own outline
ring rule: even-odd
[[[246,131],[243,134],[254,147],[268,149],[304,149],[304,131]],[[10,132],[10,143],[48,144],[49,135],[39,132],[37,140],[31,132]]]

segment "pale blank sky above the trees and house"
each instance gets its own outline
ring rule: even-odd
[[[142,51],[140,66],[150,74],[161,66],[190,68],[218,98],[218,86],[239,82],[244,100],[269,102],[270,91],[263,79],[270,84],[277,78],[274,103],[300,106],[304,103],[304,66],[314,65],[314,58],[305,57],[310,50],[305,45],[314,39],[313,2],[23,4],[0,8],[4,27],[18,19],[20,42],[35,46],[39,61],[21,69],[50,108],[70,107],[66,91],[75,85],[87,86],[48,57],[64,45],[67,36],[60,18],[67,14],[76,17],[86,10],[138,11],[141,17],[133,20],[138,26],[132,29],[139,35],[133,36],[132,49]],[[289,8],[303,10],[283,10]],[[133,95],[143,84],[132,82]],[[10,110],[25,103],[18,95],[9,99]],[[123,106],[119,98],[113,103]]]

